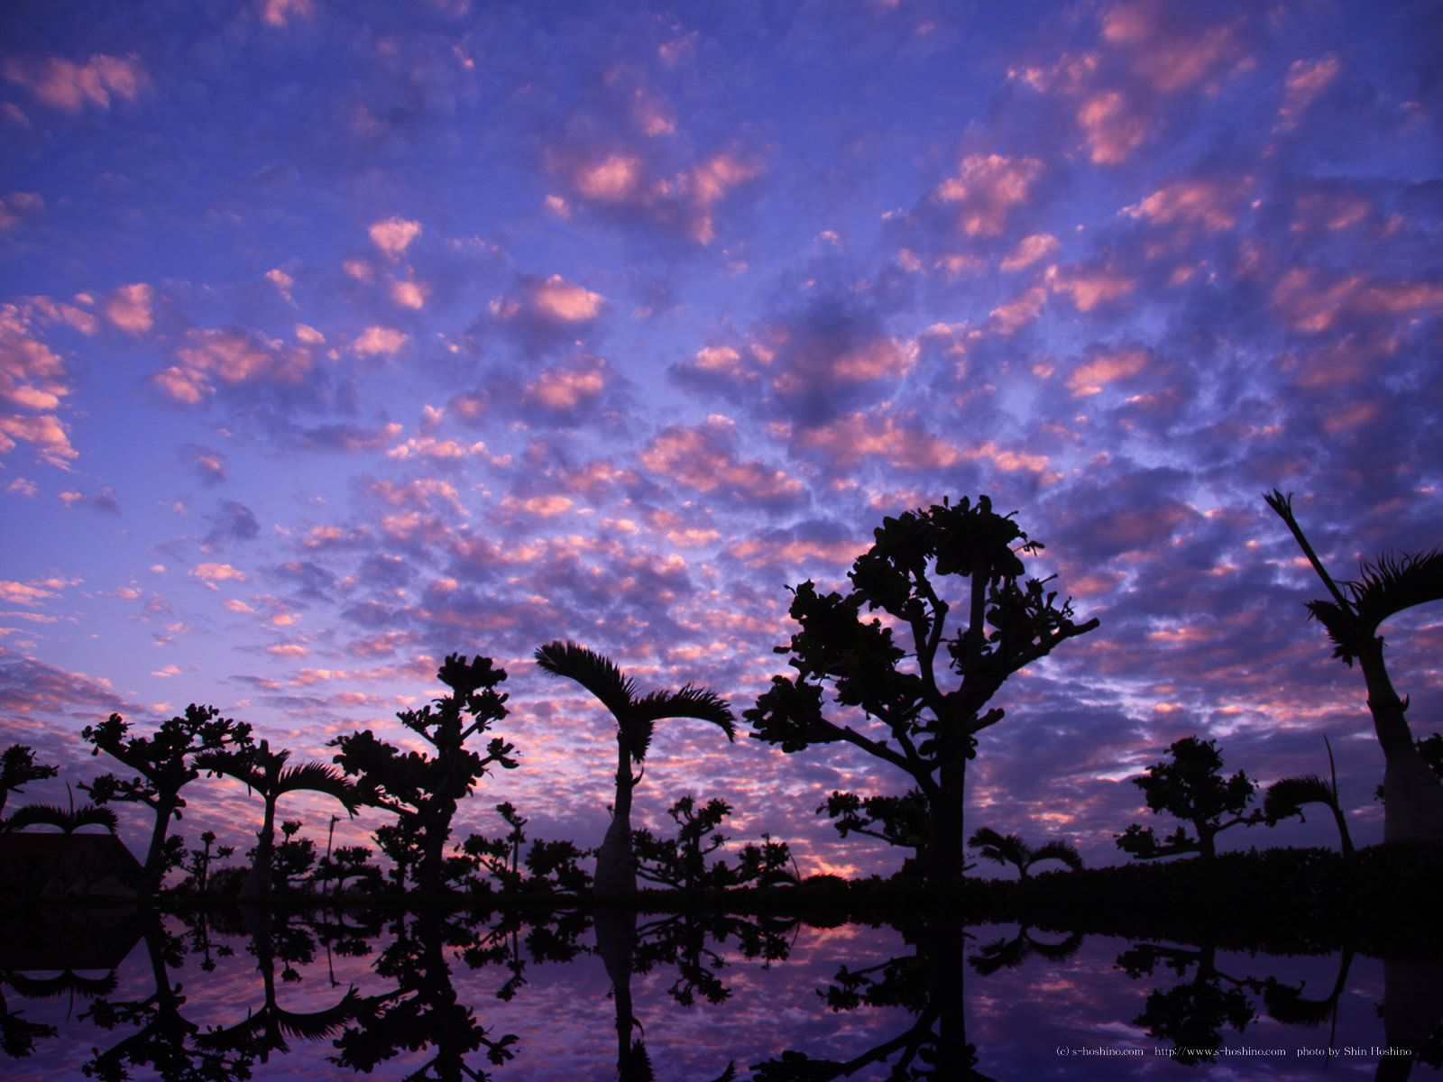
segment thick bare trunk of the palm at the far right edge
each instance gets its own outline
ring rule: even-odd
[[[1443,841],[1443,782],[1413,743],[1413,730],[1403,700],[1388,679],[1382,661],[1382,639],[1372,639],[1358,652],[1368,681],[1368,710],[1382,747],[1382,840]]]

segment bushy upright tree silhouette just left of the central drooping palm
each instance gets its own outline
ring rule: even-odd
[[[470,795],[476,780],[492,765],[506,770],[517,762],[515,750],[499,737],[486,744],[486,755],[465,747],[466,740],[485,733],[492,721],[506,716],[506,695],[496,685],[506,678],[505,669],[494,668],[491,658],[476,656],[469,664],[459,654],[447,655],[436,677],[452,688],[431,705],[405,710],[397,717],[407,729],[424,739],[434,756],[405,752],[375,739],[369,730],[338,736],[328,747],[339,747],[335,762],[348,776],[358,776],[358,795],[365,804],[385,808],[397,817],[395,830],[377,831],[377,841],[397,863],[404,876],[414,873],[416,884],[424,893],[442,889],[446,864],[446,840],[456,802]],[[466,724],[466,718],[472,718]],[[388,841],[390,840],[390,841]]]

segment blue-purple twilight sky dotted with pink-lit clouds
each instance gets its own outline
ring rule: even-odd
[[[62,778],[13,802],[115,769],[79,739],[111,711],[405,743],[483,654],[521,767],[457,837],[511,801],[596,844],[615,729],[537,646],[740,717],[788,586],[987,493],[1101,626],[1003,688],[970,830],[1120,863],[1176,825],[1127,780],[1173,740],[1266,785],[1328,736],[1381,841],[1362,677],[1261,496],[1339,579],[1443,535],[1440,115],[1426,1],[14,0],[0,744]],[[1427,736],[1439,607],[1384,635]],[[903,775],[747,731],[661,726],[635,824],[722,796],[804,873],[899,866],[815,809]],[[186,795],[182,832],[258,818]],[[323,843],[339,809],[280,811]]]

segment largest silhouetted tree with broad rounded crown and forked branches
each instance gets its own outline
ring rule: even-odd
[[[977,734],[1003,717],[987,704],[1013,672],[1098,622],[1075,623],[1071,600],[1058,604],[1056,591],[1046,591],[1049,580],[1022,581],[1019,554],[1042,542],[1012,515],[996,514],[987,496],[975,506],[964,498],[883,519],[874,537],[851,567],[846,597],[818,594],[811,581],[792,590],[801,630],[776,652],[791,654],[797,675],[773,677],[746,717],[755,736],[784,752],[844,740],[906,772],[926,798],[924,874],[960,879],[967,760],[977,753]],[[968,590],[965,625],[952,636],[945,632],[951,603],[939,591],[949,576]],[[893,628],[863,620],[863,606],[900,623],[911,649],[893,642]],[[944,688],[947,671],[957,678],[951,688]],[[869,734],[824,717],[824,685],[844,710],[860,708],[880,724]]]

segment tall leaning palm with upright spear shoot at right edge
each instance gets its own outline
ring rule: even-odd
[[[1274,489],[1264,499],[1291,531],[1332,600],[1307,602],[1309,615],[1328,630],[1333,656],[1358,661],[1368,687],[1368,710],[1382,747],[1382,840],[1443,840],[1443,782],[1418,753],[1408,729],[1408,700],[1400,698],[1382,659],[1378,626],[1404,609],[1443,600],[1443,550],[1382,555],[1362,561],[1356,581],[1335,581],[1293,515],[1293,496]]]

